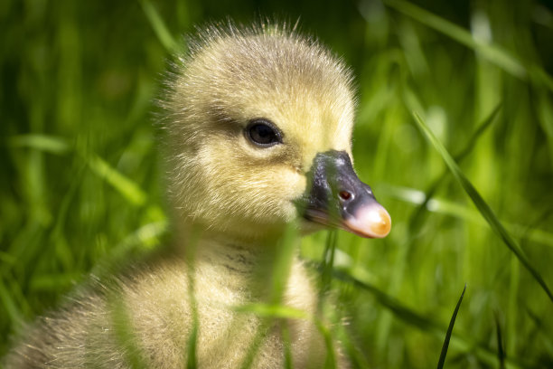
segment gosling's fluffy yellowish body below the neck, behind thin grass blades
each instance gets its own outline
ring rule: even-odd
[[[197,308],[200,368],[239,368],[258,335],[263,336],[252,368],[284,367],[278,326],[234,307],[265,301],[266,279],[253,264],[261,255],[237,246],[200,242],[194,270],[179,258],[143,266],[109,284],[93,281],[54,314],[41,317],[6,368],[179,368],[187,350]],[[192,274],[189,274],[192,273]],[[190,280],[194,284],[192,305]],[[295,261],[283,298],[288,306],[315,313],[314,289],[304,266]],[[124,309],[120,314],[121,308]],[[289,320],[296,368],[323,366],[323,339],[306,320]],[[122,332],[130,330],[130,336]],[[122,342],[132,338],[132,345]],[[136,366],[134,366],[136,367]]]

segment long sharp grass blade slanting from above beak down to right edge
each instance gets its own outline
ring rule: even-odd
[[[530,271],[530,274],[536,281],[539,283],[541,288],[548,294],[549,299],[553,302],[553,293],[548,288],[547,283],[539,274],[539,271],[536,270],[530,260],[526,257],[523,251],[520,249],[520,245],[515,241],[511,233],[507,232],[505,227],[501,224],[495,213],[493,213],[492,208],[488,203],[483,200],[483,197],[476,191],[473,184],[466,178],[464,173],[461,171],[461,168],[457,165],[454,158],[447,152],[442,143],[434,136],[430,128],[426,126],[426,123],[420,118],[417,113],[414,113],[415,121],[417,122],[417,127],[423,132],[423,134],[428,138],[432,145],[436,148],[436,151],[442,156],[445,161],[445,164],[449,167],[452,174],[455,176],[455,179],[463,186],[464,191],[468,194],[473,200],[474,205],[478,211],[482,214],[483,218],[490,224],[492,231],[495,232],[498,237],[505,243],[505,245],[516,255],[520,260],[520,263]]]

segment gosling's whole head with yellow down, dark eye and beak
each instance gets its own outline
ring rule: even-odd
[[[389,214],[351,165],[351,71],[286,27],[209,28],[179,58],[163,106],[182,222],[257,242],[301,219],[384,237]],[[319,226],[320,228],[320,226]]]

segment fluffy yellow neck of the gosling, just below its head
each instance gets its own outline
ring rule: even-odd
[[[233,306],[282,303],[314,313],[315,291],[297,258],[296,242],[283,240],[288,238],[285,234],[253,243],[225,240],[209,231],[183,227],[180,231],[173,252],[185,264],[178,268],[192,271],[188,276],[193,289],[203,292],[198,296]]]

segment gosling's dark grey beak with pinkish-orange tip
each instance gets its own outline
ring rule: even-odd
[[[311,185],[303,201],[305,219],[366,238],[388,235],[389,213],[355,174],[345,151],[317,154],[308,176]]]

